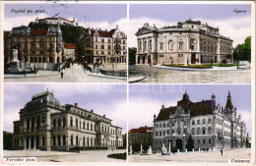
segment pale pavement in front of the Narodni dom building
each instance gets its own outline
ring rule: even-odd
[[[126,150],[88,150],[84,153],[41,151],[41,150],[4,150],[4,157],[36,157],[36,161],[51,162],[126,162],[126,160],[108,158],[108,154],[123,153]]]

